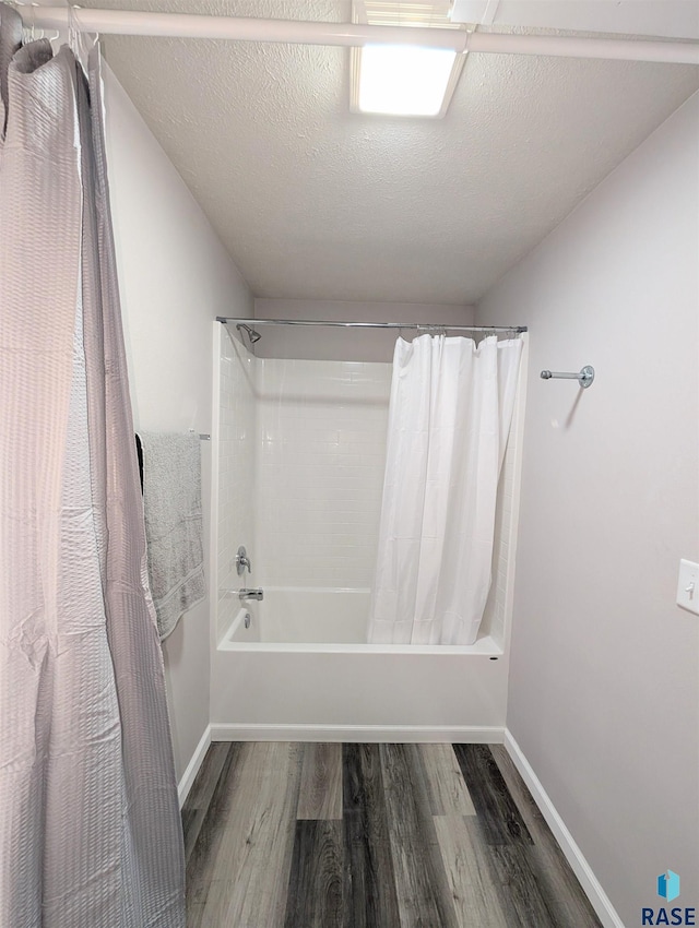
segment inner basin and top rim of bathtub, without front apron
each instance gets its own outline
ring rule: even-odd
[[[221,651],[327,651],[478,654],[500,656],[488,635],[471,645],[367,644],[371,591],[263,586],[264,599],[246,600],[218,644]],[[232,591],[232,597],[237,594]],[[246,628],[248,619],[248,628]]]

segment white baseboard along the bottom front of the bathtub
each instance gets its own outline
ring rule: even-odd
[[[235,725],[214,722],[212,741],[371,741],[501,745],[503,728],[478,725]]]

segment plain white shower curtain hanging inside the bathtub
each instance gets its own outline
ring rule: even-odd
[[[369,641],[473,644],[522,342],[399,338]]]

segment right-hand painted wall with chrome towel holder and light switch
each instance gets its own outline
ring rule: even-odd
[[[628,926],[699,904],[698,181],[695,95],[478,308],[531,328],[508,727]]]

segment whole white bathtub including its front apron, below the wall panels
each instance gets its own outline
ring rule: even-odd
[[[212,655],[212,738],[502,740],[499,642],[367,644],[369,590],[262,588],[240,607],[226,594],[235,612]]]

